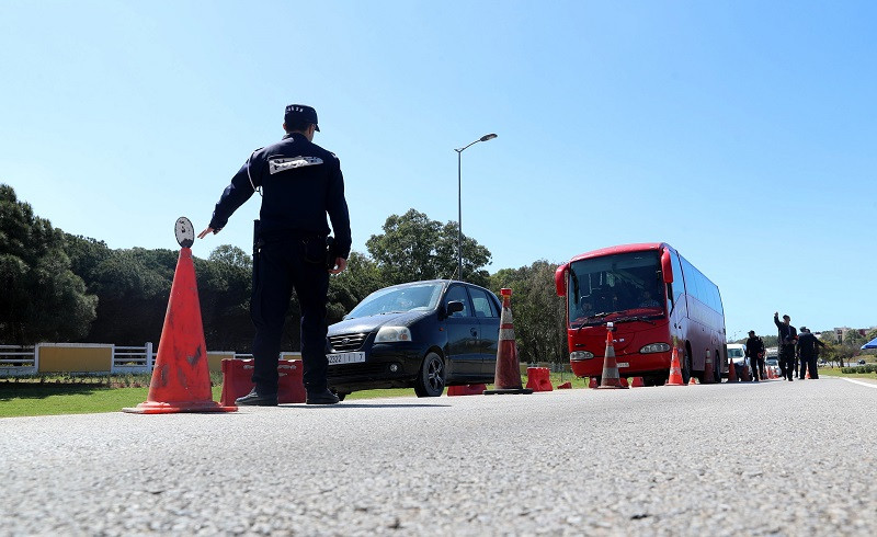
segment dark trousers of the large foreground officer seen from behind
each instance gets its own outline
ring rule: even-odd
[[[305,388],[323,390],[329,367],[326,359],[326,239],[283,238],[262,245],[253,264],[250,316],[255,325],[252,380],[257,391],[277,391],[283,322],[295,289],[301,306],[301,362]]]

